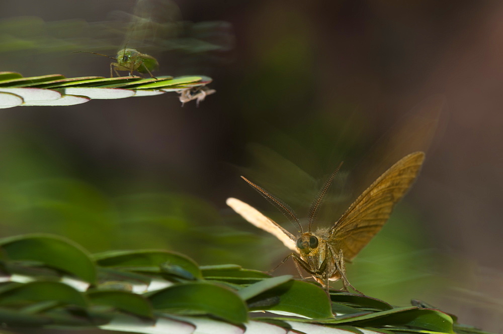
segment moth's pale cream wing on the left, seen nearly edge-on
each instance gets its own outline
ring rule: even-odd
[[[299,251],[295,246],[295,237],[290,232],[276,224],[276,222],[274,222],[272,219],[266,217],[256,208],[240,201],[239,199],[232,197],[227,198],[226,203],[248,222],[255,225],[259,229],[269,232],[270,234],[278,238],[286,247],[299,254]]]

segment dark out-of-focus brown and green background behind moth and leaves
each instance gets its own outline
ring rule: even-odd
[[[400,305],[423,299],[461,322],[501,331],[503,5],[177,5],[184,20],[230,23],[233,49],[190,62],[160,52],[157,73],[210,75],[217,93],[199,107],[181,107],[175,94],[165,94],[3,109],[1,236],[57,233],[92,252],[164,248],[202,265],[269,270],[288,251],[234,214],[225,199],[234,196],[278,222],[286,219],[239,175],[305,216],[315,185],[344,160],[333,196],[351,201],[397,160],[370,158],[374,148],[414,119],[418,105],[442,93],[447,106],[420,177],[348,265],[349,277],[371,296]],[[109,34],[104,28],[75,22],[103,22],[108,13],[133,7],[134,1],[2,1],[0,19],[21,23],[17,42],[46,47],[28,43],[16,51],[0,25],[0,70],[108,76],[109,59],[72,54],[82,50],[58,49],[59,42],[72,36],[82,46],[102,41]],[[20,16],[42,21],[34,28]],[[40,27],[63,20],[71,21],[41,37]],[[393,144],[397,152],[407,150],[408,139],[401,142]],[[303,192],[306,180],[312,188]],[[296,270],[287,263],[277,273],[284,272]]]

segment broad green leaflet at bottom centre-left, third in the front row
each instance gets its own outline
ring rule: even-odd
[[[209,282],[174,285],[149,296],[155,309],[165,311],[196,310],[232,323],[243,323],[248,310],[232,290]]]

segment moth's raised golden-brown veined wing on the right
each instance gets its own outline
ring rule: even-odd
[[[346,210],[332,228],[329,243],[344,259],[352,260],[379,232],[393,206],[411,186],[425,159],[411,153],[384,172]]]

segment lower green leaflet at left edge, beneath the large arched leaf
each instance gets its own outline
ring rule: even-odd
[[[81,307],[86,307],[88,304],[80,292],[69,285],[59,282],[17,284],[0,291],[1,305],[48,300]]]

